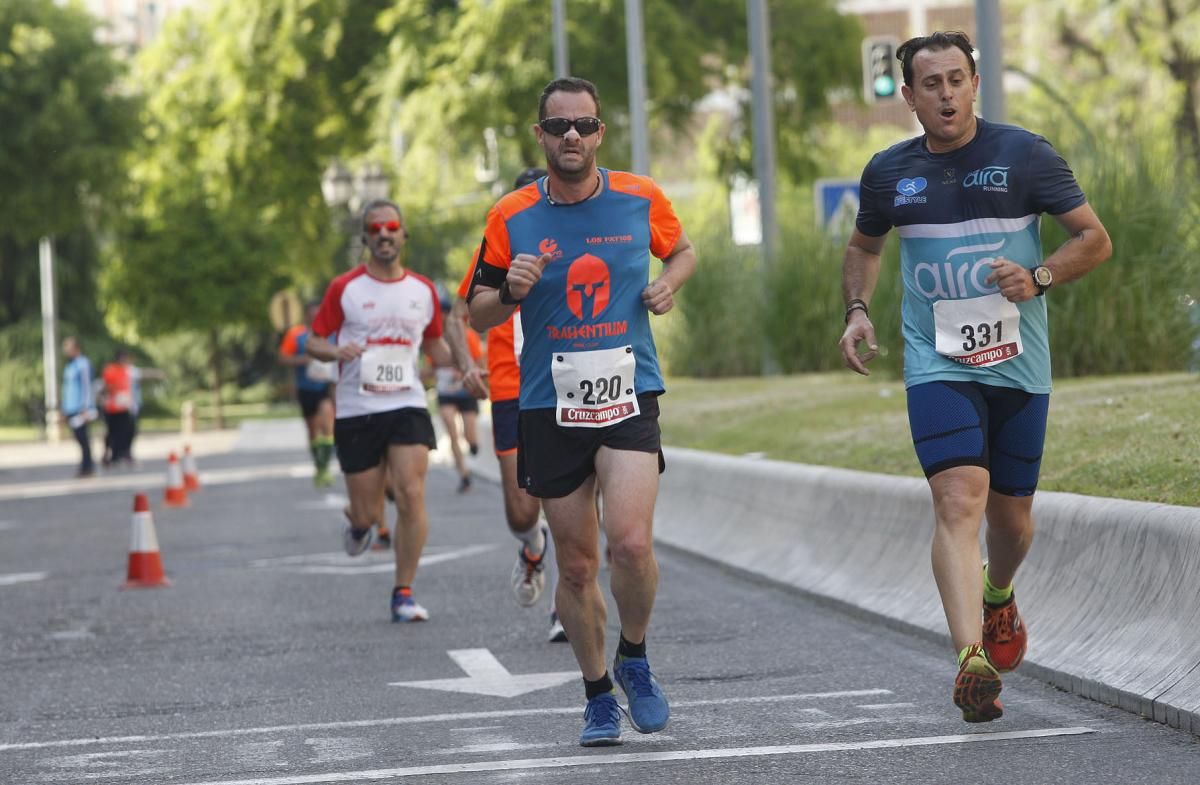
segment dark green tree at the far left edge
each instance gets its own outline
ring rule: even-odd
[[[0,4],[0,325],[38,313],[37,240],[59,244],[62,311],[96,314],[89,236],[124,179],[137,102],[95,23],[50,0]]]

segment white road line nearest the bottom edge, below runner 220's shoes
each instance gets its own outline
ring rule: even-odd
[[[779,755],[811,755],[868,749],[898,749],[906,747],[937,747],[946,744],[980,744],[1055,736],[1094,733],[1091,727],[1046,727],[1031,731],[1001,731],[997,733],[966,733],[954,736],[924,736],[917,738],[881,738],[863,742],[826,742],[820,744],[782,744],[776,747],[734,747],[725,749],[686,749],[660,753],[618,753],[614,755],[572,755],[570,757],[532,757],[506,761],[474,761],[404,768],[374,768],[361,772],[330,772],[328,774],[298,774],[259,779],[206,780],[187,785],[316,785],[318,783],[355,783],[365,780],[432,774],[463,774],[467,772],[514,772],[535,768],[570,768],[578,766],[612,766],[613,763],[658,763],[670,761],[727,760],[736,757],[767,757]]]

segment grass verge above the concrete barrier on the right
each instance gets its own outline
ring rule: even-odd
[[[1200,374],[1055,382],[1039,489],[1200,507]],[[848,371],[670,379],[672,447],[922,477],[904,383]]]

